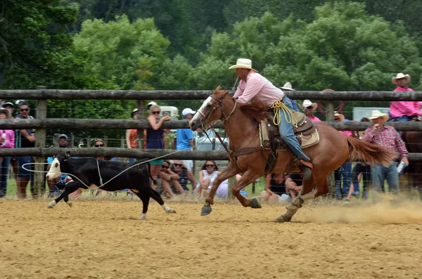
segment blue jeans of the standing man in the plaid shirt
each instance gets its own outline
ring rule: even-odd
[[[372,186],[378,192],[383,191],[384,180],[388,183],[388,192],[397,193],[399,191],[399,174],[397,174],[397,166],[395,163],[384,167],[377,164],[371,169]]]

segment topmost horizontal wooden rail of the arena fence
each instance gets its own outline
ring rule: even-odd
[[[174,90],[0,90],[6,100],[205,100],[212,91]],[[422,91],[286,91],[295,100],[422,100]]]

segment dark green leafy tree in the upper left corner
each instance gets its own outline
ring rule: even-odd
[[[0,87],[8,89],[72,88],[83,61],[74,56],[65,25],[77,6],[58,0],[2,0],[0,5]]]

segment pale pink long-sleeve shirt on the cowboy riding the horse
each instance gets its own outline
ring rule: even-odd
[[[248,103],[252,98],[262,101],[270,106],[277,100],[284,97],[284,92],[271,84],[261,74],[251,70],[246,78],[246,82],[242,79],[239,82],[234,98],[238,97],[238,103]]]

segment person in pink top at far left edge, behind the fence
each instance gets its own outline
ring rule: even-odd
[[[0,108],[0,119],[11,119],[11,112]],[[0,148],[15,148],[15,131],[0,129]],[[6,196],[8,167],[11,157],[3,157],[0,161],[0,198]]]

